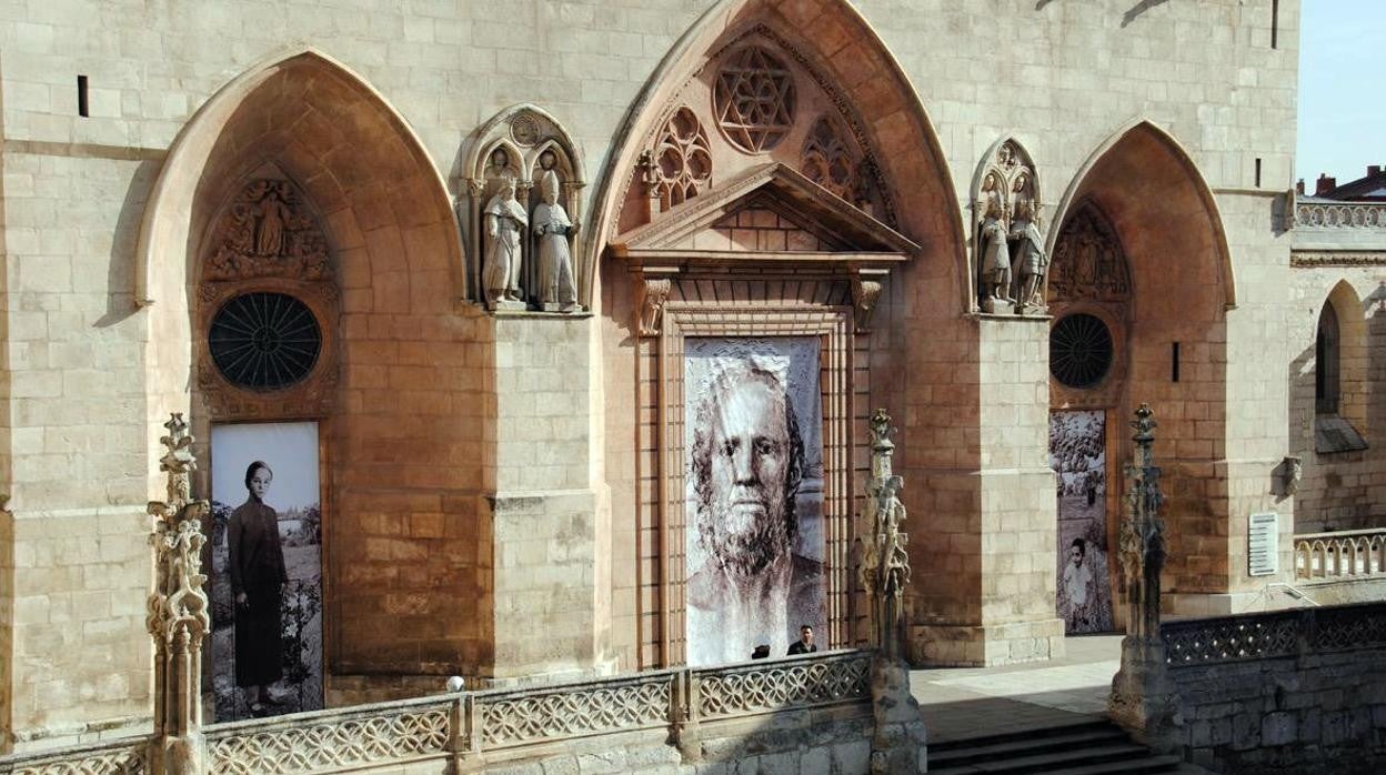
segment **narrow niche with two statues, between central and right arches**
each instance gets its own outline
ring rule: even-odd
[[[1040,182],[1015,140],[992,146],[973,177],[972,266],[977,305],[988,315],[1045,315]]]

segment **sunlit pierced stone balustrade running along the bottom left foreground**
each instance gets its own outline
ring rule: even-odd
[[[839,650],[547,686],[459,692],[213,724],[202,733],[212,775],[484,771],[552,751],[550,743],[640,731],[689,738],[700,724],[859,706],[869,715],[872,652]],[[681,744],[687,743],[682,740]],[[150,738],[0,758],[4,775],[144,775]]]

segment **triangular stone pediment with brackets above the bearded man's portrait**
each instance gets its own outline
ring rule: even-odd
[[[610,250],[638,275],[640,330],[653,336],[667,301],[712,301],[718,284],[710,280],[747,272],[822,283],[822,302],[851,304],[866,330],[881,277],[919,245],[793,168],[768,162],[621,234]],[[722,301],[762,295],[729,293]]]

